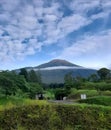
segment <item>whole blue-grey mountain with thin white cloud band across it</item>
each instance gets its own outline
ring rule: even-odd
[[[70,72],[74,77],[88,77],[96,73],[95,69],[85,68],[61,59],[54,59],[36,67],[26,67],[26,69],[28,71],[33,69],[37,73],[40,73],[42,82],[46,84],[64,83],[64,76]]]

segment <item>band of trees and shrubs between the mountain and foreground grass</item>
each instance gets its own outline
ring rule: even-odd
[[[79,99],[80,94],[85,93],[87,97],[104,94],[103,91],[111,91],[110,70],[101,68],[97,74],[92,74],[88,78],[81,76],[73,77],[68,73],[64,77],[64,84],[42,84],[41,75],[34,70],[27,71],[25,68],[16,71],[0,72],[0,96],[16,96],[35,98],[36,94],[47,95],[47,99]],[[108,92],[107,92],[108,93]],[[110,92],[109,92],[110,93]],[[110,94],[109,94],[110,95]]]

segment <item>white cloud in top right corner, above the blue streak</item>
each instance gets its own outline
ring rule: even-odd
[[[73,0],[68,6],[74,13],[83,16],[87,16],[87,13],[92,11],[93,13],[89,17],[91,20],[108,17],[111,13],[110,0]]]

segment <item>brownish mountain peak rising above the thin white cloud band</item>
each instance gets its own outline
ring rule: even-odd
[[[56,67],[56,66],[69,66],[69,67],[79,67],[78,65],[75,65],[69,61],[62,60],[62,59],[54,59],[51,60],[45,64],[41,64],[37,66],[36,68],[47,68],[47,67]]]

